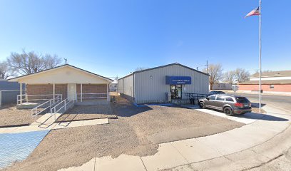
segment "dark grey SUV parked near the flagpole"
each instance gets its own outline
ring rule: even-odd
[[[200,108],[222,110],[226,115],[245,114],[252,112],[250,100],[237,95],[210,95],[199,100]]]

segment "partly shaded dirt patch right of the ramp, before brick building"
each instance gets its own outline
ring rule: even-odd
[[[61,115],[57,122],[70,122],[76,120],[91,120],[100,118],[117,118],[111,105],[75,105]]]

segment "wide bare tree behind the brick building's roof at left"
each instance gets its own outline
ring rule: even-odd
[[[41,53],[36,53],[31,51],[26,53],[11,53],[11,56],[7,58],[7,66],[11,71],[15,71],[21,75],[31,74],[39,71],[46,70],[48,68],[53,68],[58,66],[61,63],[61,58],[50,54],[41,55]]]

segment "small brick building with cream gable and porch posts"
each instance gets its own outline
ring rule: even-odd
[[[26,96],[61,95],[63,99],[83,101],[108,98],[108,85],[113,80],[71,65],[58,66],[39,73],[12,78],[26,85]],[[21,98],[22,95],[22,86]],[[22,100],[21,100],[22,103]]]

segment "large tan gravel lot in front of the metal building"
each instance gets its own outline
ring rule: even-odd
[[[177,133],[195,138],[244,125],[185,108],[138,108],[119,96],[112,107],[118,119],[110,120],[110,124],[51,130],[26,160],[6,170],[58,170],[83,165],[93,157],[154,155],[159,146],[155,141],[183,139]]]

